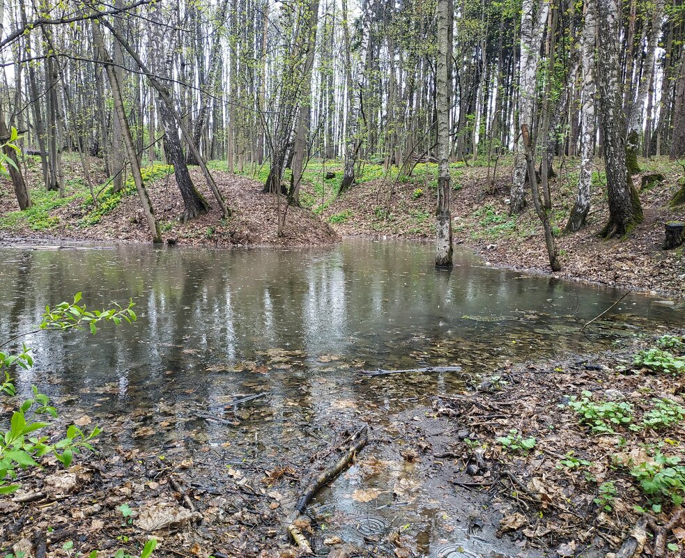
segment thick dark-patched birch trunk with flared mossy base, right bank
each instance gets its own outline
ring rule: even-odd
[[[599,235],[624,236],[642,222],[640,197],[626,166],[626,134],[619,84],[619,6],[617,0],[598,0],[599,120],[609,201],[609,221]]]

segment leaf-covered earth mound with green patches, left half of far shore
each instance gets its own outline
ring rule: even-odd
[[[96,164],[97,160],[94,166]],[[29,183],[34,185],[40,183],[37,170],[35,164],[28,169]],[[165,242],[232,247],[328,245],[340,240],[330,225],[313,212],[293,207],[288,208],[283,234],[278,236],[274,197],[263,194],[262,185],[256,180],[213,171],[226,206],[232,213],[229,219],[222,219],[217,203],[197,168],[192,168],[190,174],[212,209],[199,219],[182,224],[178,215],[183,212],[183,201],[170,170],[170,167],[155,167],[146,184]],[[40,189],[33,189],[35,206],[29,210],[29,217],[17,212],[19,208],[11,185],[5,180],[0,181],[0,235],[6,239],[48,237],[59,240],[151,241],[132,184],[127,188],[129,195],[121,196],[121,199],[112,195],[111,189],[104,189],[98,210],[84,187],[80,164],[69,164],[67,171],[67,199],[59,200],[56,193],[46,194]],[[97,180],[102,178],[104,183],[102,172],[95,170],[94,175]]]

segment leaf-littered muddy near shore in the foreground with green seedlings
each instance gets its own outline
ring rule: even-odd
[[[594,355],[504,366],[462,395],[425,394],[390,415],[359,408],[368,444],[298,527],[317,555],[336,558],[604,557],[631,536],[652,557],[682,556],[684,341],[626,338]],[[636,364],[635,355],[653,357],[657,345],[668,359]],[[275,352],[258,364],[268,369],[284,357],[291,355]],[[116,394],[102,401],[108,396]],[[93,548],[101,557],[116,548],[135,556],[155,537],[160,558],[295,558],[289,513],[312,479],[346,454],[355,427],[332,419],[316,443],[303,447],[288,436],[274,441],[274,454],[255,451],[256,439],[242,434],[217,438],[263,420],[259,401],[208,416],[226,426],[193,430],[193,448],[180,432],[167,444],[155,436],[194,424],[194,408],[161,402],[167,418],[158,424],[145,411],[111,416],[100,454],[77,456],[66,471],[52,463],[20,473],[22,489],[0,499],[0,548],[27,558],[41,544],[47,557]],[[67,420],[92,428],[100,419]],[[123,443],[124,433],[144,449]],[[369,513],[345,516],[332,499],[364,502]],[[407,509],[418,510],[415,521],[407,522]]]

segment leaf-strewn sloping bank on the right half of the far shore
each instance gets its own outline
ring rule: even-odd
[[[575,201],[577,172],[562,169],[551,184],[553,224],[562,270],[555,277],[590,281],[607,286],[685,296],[683,249],[664,251],[664,224],[685,219],[685,206],[668,202],[683,180],[682,169],[665,161],[642,162],[649,171],[665,176],[662,183],[642,189],[645,220],[629,238],[601,240],[597,233],[608,219],[606,179],[594,173],[592,208],[587,226],[578,233],[562,233]],[[430,172],[430,173],[429,173]],[[410,180],[377,179],[361,183],[323,212],[344,235],[433,238],[436,207],[435,177],[418,169]],[[475,250],[492,265],[550,273],[542,227],[532,208],[509,215],[511,167],[501,166],[495,180],[486,167],[452,168],[454,240]],[[642,175],[633,177],[639,188]]]

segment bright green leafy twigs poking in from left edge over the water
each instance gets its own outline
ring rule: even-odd
[[[114,303],[111,309],[102,311],[88,311],[85,305],[79,306],[82,294],[77,293],[73,302],[62,302],[54,309],[45,308],[43,321],[38,329],[31,332],[14,336],[0,345],[0,349],[13,343],[23,336],[40,331],[66,331],[81,330],[88,327],[91,333],[97,332],[96,324],[101,321],[109,321],[119,325],[125,320],[132,323],[137,319],[133,311],[134,304],[129,301],[128,307],[121,307]],[[13,355],[10,352],[0,351],[0,375],[4,380],[0,384],[0,392],[8,396],[15,396],[16,390],[12,382],[10,371],[12,369],[30,369],[33,366],[31,350],[22,343],[22,349]],[[57,417],[56,409],[50,405],[47,395],[32,387],[33,397],[26,399],[20,407],[13,412],[10,419],[10,428],[0,432],[0,494],[12,493],[20,484],[8,483],[8,479],[16,479],[18,468],[40,467],[38,459],[52,454],[64,467],[68,467],[75,453],[83,449],[93,450],[91,441],[100,433],[100,428],[93,428],[90,433],[85,433],[72,424],[67,428],[66,437],[54,443],[48,443],[48,436],[41,436],[40,431],[50,426],[50,419]]]

